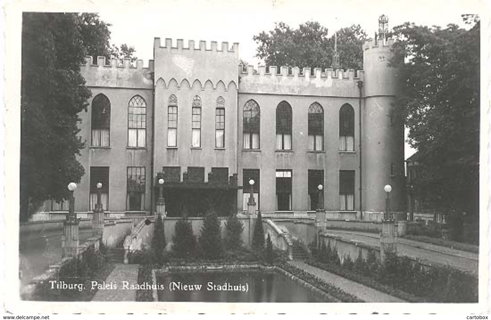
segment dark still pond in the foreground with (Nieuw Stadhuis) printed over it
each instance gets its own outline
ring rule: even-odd
[[[328,302],[320,293],[283,274],[244,272],[157,272],[159,301]]]

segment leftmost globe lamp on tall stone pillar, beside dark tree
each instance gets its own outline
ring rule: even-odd
[[[68,183],[70,191],[70,200],[68,214],[63,222],[63,239],[62,239],[62,257],[77,257],[79,254],[79,219],[75,214],[75,197],[74,191],[77,189],[77,183]]]

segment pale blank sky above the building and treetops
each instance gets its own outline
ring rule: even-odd
[[[421,25],[464,27],[461,14],[480,13],[485,5],[479,0],[164,0],[125,1],[99,6],[100,17],[110,23],[111,43],[128,44],[144,65],[153,59],[155,37],[239,43],[239,57],[257,67],[254,35],[274,28],[277,22],[291,27],[317,21],[329,34],[342,27],[360,24],[369,37],[378,31],[378,18],[388,17],[389,29],[411,22]],[[218,46],[220,46],[218,44]],[[312,68],[318,66],[311,66]],[[415,150],[406,143],[405,158]]]

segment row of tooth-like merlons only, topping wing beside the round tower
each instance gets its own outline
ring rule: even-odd
[[[290,78],[298,78],[304,77],[305,79],[356,79],[363,80],[363,70],[355,70],[348,69],[325,69],[324,71],[321,68],[314,68],[314,74],[311,73],[311,68],[303,68],[300,70],[298,67],[290,68],[286,66],[282,66],[279,69],[276,66],[269,66],[269,72],[266,72],[266,66],[259,66],[258,69],[254,69],[253,66],[247,66],[247,71],[244,71],[242,65],[239,66],[239,75],[247,74],[247,76],[271,76],[271,77],[290,77]]]

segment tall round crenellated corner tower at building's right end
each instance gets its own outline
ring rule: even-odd
[[[396,111],[399,79],[390,66],[392,44],[392,39],[382,38],[363,46],[363,212],[385,211],[383,187],[390,184],[394,218],[406,220],[404,119]]]

